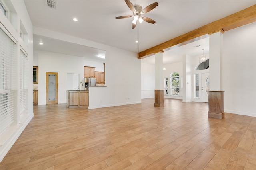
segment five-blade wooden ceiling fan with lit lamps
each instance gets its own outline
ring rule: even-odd
[[[130,16],[120,16],[120,17],[116,17],[116,19],[123,19],[123,18],[131,18],[133,17],[133,21],[132,21],[132,29],[134,29],[138,23],[138,21],[140,23],[142,23],[142,21],[146,21],[148,23],[156,23],[156,21],[152,20],[151,18],[145,17],[145,16],[141,16],[142,14],[145,14],[151,10],[153,10],[154,8],[156,8],[156,6],[158,6],[158,3],[155,2],[153,4],[150,4],[149,6],[147,6],[146,8],[142,9],[141,6],[136,5],[134,6],[132,4],[132,2],[130,2],[129,0],[124,0],[127,4],[127,6],[130,8],[130,10],[132,10],[133,15]]]

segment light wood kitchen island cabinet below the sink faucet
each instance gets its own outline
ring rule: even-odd
[[[88,90],[66,90],[66,107],[68,108],[88,108]]]

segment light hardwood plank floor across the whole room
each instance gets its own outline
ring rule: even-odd
[[[34,106],[1,170],[256,168],[256,117],[208,118],[208,104],[164,99],[101,109]]]

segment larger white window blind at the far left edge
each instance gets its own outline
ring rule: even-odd
[[[0,29],[0,135],[17,113],[17,45]]]

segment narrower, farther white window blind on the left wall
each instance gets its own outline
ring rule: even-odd
[[[28,56],[20,50],[20,114],[28,110]]]

